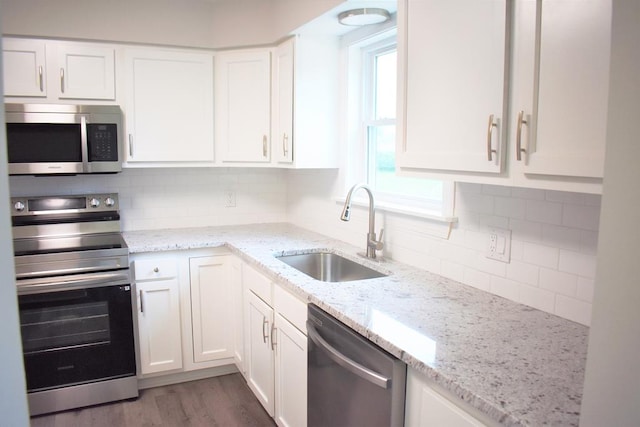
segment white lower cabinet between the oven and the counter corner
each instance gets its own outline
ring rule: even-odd
[[[231,255],[134,254],[139,374],[233,365]]]

